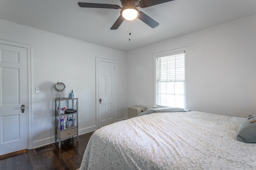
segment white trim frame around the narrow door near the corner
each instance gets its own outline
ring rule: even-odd
[[[103,59],[103,58],[99,58],[99,57],[96,57],[96,128],[99,129],[99,78],[98,78],[98,68],[99,68],[99,64],[98,62],[99,61],[103,61],[103,62],[107,62],[107,63],[114,63],[115,65],[115,112],[116,112],[116,121],[117,121],[117,99],[116,99],[116,96],[117,96],[117,62],[114,61],[114,60],[110,60],[110,59]]]

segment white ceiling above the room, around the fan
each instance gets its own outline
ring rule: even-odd
[[[174,0],[138,8],[159,25],[136,18],[129,35],[126,20],[110,30],[120,9],[80,8],[78,2],[121,6],[120,0],[0,0],[0,19],[126,52],[256,14],[256,0]]]

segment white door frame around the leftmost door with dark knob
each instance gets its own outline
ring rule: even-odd
[[[16,43],[13,41],[7,41],[7,40],[3,40],[0,39],[0,44],[2,45],[11,45],[14,47],[22,47],[25,48],[27,51],[27,77],[28,77],[28,98],[27,98],[27,103],[28,106],[26,107],[26,109],[28,109],[28,115],[27,115],[27,120],[28,120],[28,125],[27,125],[27,149],[32,149],[32,92],[31,92],[31,78],[32,78],[32,74],[31,74],[31,54],[32,54],[32,47],[31,45],[27,45],[27,44],[22,44],[22,43]]]

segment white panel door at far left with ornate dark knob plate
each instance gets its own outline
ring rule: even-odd
[[[28,148],[27,64],[26,48],[0,44],[0,155]]]

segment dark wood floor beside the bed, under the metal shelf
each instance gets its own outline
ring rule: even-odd
[[[59,148],[38,155],[34,150],[0,160],[0,170],[76,170],[80,168],[84,150],[93,132],[79,135],[79,141],[66,139]]]

